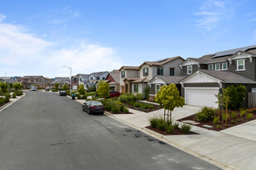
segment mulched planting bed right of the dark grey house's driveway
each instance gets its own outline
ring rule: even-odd
[[[249,110],[246,110],[246,111],[249,111]],[[230,113],[231,111],[229,111]],[[185,118],[182,118],[178,121],[186,121],[186,124],[191,124],[191,125],[196,125],[196,126],[199,126],[199,127],[202,127],[202,128],[205,128],[205,129],[208,129],[208,130],[215,130],[215,131],[220,131],[220,130],[225,130],[225,129],[228,129],[229,127],[233,127],[235,125],[240,125],[240,124],[243,124],[245,122],[248,122],[250,120],[255,120],[256,119],[256,111],[251,111],[249,113],[253,113],[253,116],[248,119],[246,117],[246,115],[244,116],[240,116],[239,112],[236,112],[237,115],[233,118],[231,116],[229,116],[229,119],[228,119],[228,124],[226,125],[225,123],[225,120],[221,120],[220,118],[220,121],[219,123],[214,123],[213,120],[206,120],[206,121],[198,121],[196,120],[196,114],[195,115],[192,115],[192,116],[187,116]],[[196,124],[193,122],[193,123],[189,123],[187,122],[187,120],[190,120],[190,121],[194,121],[196,122]],[[210,125],[212,127],[205,127],[204,125]]]

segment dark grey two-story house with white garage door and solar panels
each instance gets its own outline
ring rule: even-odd
[[[222,88],[242,84],[247,92],[256,91],[255,57],[252,45],[186,59],[180,64],[181,76],[186,76],[180,82],[181,96],[189,105],[217,107],[215,94]]]

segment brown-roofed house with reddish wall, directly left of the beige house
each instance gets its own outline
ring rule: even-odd
[[[120,71],[118,69],[109,72],[105,81],[109,83],[110,91],[120,92]]]

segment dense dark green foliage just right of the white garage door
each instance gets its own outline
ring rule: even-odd
[[[243,85],[229,86],[225,88],[225,97],[229,97],[228,106],[231,110],[238,110],[244,104],[246,87]]]

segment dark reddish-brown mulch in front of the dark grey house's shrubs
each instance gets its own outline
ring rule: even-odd
[[[241,125],[241,124],[244,124],[245,122],[248,122],[248,121],[256,119],[256,114],[255,113],[253,114],[252,119],[247,119],[246,116],[240,116],[238,114],[234,118],[234,122],[233,123],[231,123],[231,120],[233,120],[233,119],[230,119],[230,117],[229,117],[228,125],[226,125],[225,124],[225,120],[222,122],[221,119],[220,119],[220,123],[214,124],[213,120],[207,120],[207,121],[204,121],[204,122],[200,122],[200,121],[196,120],[195,116],[196,116],[196,114],[192,115],[192,116],[187,116],[187,117],[182,118],[182,119],[180,119],[178,121],[182,122],[182,120],[193,120],[193,121],[196,121],[196,123],[199,123],[199,124],[196,124],[196,126],[199,126],[201,128],[205,128],[205,129],[208,129],[208,130],[220,131],[220,130],[225,130],[225,129],[228,129],[230,127],[234,127],[235,125]],[[237,119],[239,119],[239,121]],[[186,122],[186,124],[190,124],[190,123]],[[195,124],[190,124],[190,125],[195,125]],[[213,127],[212,128],[208,128],[208,127],[204,127],[203,125],[210,125],[210,126],[213,126]],[[217,125],[220,125],[221,129],[218,128]]]

